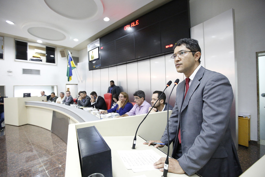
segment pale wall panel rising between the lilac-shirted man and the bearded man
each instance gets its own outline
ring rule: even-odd
[[[145,100],[150,103],[151,101],[151,81],[150,81],[150,60],[138,61],[138,90],[145,93]],[[136,91],[136,90],[135,90]]]

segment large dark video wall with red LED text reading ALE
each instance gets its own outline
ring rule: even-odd
[[[188,7],[187,0],[171,1],[101,37],[98,68],[173,53],[176,41],[190,37]]]

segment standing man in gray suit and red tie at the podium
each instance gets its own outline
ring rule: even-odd
[[[197,40],[181,39],[174,46],[171,58],[177,72],[187,78],[176,89],[176,102],[169,118],[169,142],[166,128],[160,141],[151,140],[148,145],[174,143],[169,172],[239,176],[242,170],[229,121],[233,90],[226,76],[202,67],[200,57]],[[154,167],[163,171],[164,162],[165,158],[161,158]]]

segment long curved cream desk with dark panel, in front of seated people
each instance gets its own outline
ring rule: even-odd
[[[42,100],[43,97],[5,98],[5,123],[39,126],[52,131],[67,143],[69,124],[100,120],[82,109]]]

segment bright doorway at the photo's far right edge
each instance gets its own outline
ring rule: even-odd
[[[258,144],[265,145],[265,51],[256,52],[257,58],[257,102]]]

